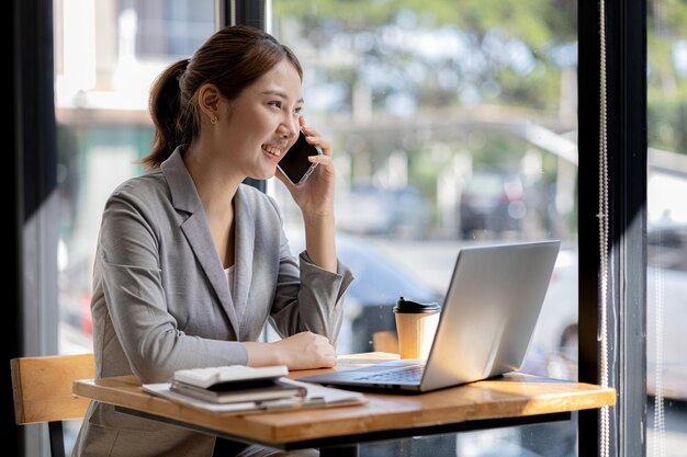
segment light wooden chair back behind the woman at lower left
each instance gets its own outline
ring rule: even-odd
[[[10,365],[16,423],[47,422],[50,454],[65,457],[63,421],[83,419],[89,403],[71,393],[71,384],[94,376],[93,354],[19,357]]]

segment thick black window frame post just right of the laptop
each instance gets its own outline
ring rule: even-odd
[[[601,0],[604,1],[604,0]],[[599,2],[578,2],[579,380],[601,380]],[[618,400],[609,455],[646,453],[646,0],[605,1],[609,182],[608,366]],[[590,94],[597,94],[590,96]],[[584,183],[584,185],[582,184]],[[579,413],[579,455],[599,455],[599,411]]]

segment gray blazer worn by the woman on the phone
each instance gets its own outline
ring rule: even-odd
[[[290,252],[272,198],[234,198],[229,286],[198,192],[177,148],[160,170],[123,183],[103,213],[93,267],[95,377],[165,381],[181,368],[246,364],[239,341],[268,319],[281,335],[309,330],[334,343],[352,281]],[[91,402],[74,456],[211,456],[214,437]]]

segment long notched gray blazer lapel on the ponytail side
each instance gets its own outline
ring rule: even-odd
[[[174,150],[169,159],[162,163],[160,169],[169,185],[169,192],[174,208],[189,213],[189,217],[181,222],[180,229],[187,237],[195,259],[205,272],[217,299],[222,304],[222,308],[229,319],[234,333],[236,338],[238,338],[239,319],[234,309],[229,284],[224,269],[222,267],[217,248],[213,242],[212,232],[207,226],[205,210],[198,196],[193,180],[183,163],[180,148]]]

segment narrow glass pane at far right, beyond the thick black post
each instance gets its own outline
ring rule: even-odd
[[[649,1],[646,454],[687,448],[687,3]]]

